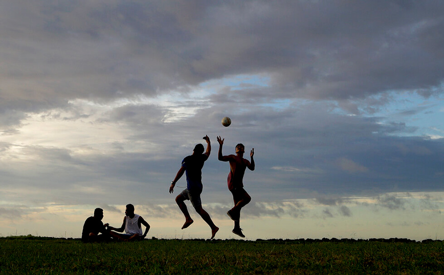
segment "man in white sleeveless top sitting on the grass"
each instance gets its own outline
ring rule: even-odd
[[[145,225],[145,233],[142,234],[142,224]],[[140,241],[146,237],[146,234],[149,231],[149,224],[146,222],[142,216],[134,213],[134,205],[127,204],[125,209],[125,217],[123,218],[122,226],[119,228],[108,226],[108,230],[113,230],[116,232],[123,232],[125,234],[119,234],[113,231],[110,231],[109,234],[118,240],[121,241]]]

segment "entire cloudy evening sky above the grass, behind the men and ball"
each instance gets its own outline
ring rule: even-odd
[[[254,148],[247,240],[444,239],[441,1],[0,2],[0,237],[79,238],[125,205],[148,238],[210,227],[169,185],[203,136],[203,207]],[[230,117],[229,127],[221,125]]]

